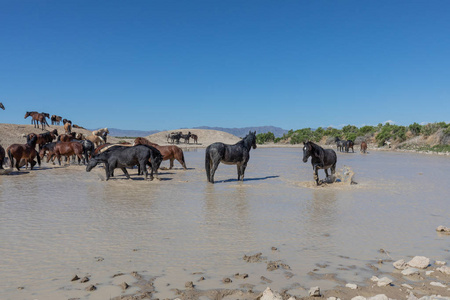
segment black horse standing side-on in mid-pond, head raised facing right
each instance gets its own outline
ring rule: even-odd
[[[250,149],[256,149],[256,131],[234,145],[214,143],[206,148],[205,169],[208,182],[214,183],[214,173],[219,163],[237,165],[238,180],[244,181],[244,172],[250,159]]]

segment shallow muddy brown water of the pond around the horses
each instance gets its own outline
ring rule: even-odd
[[[312,184],[300,148],[252,150],[244,182],[235,180],[235,166],[221,164],[214,185],[206,182],[204,150],[185,157],[189,170],[176,163],[152,182],[126,180],[120,170],[105,182],[101,168],[50,164],[0,176],[1,298],[109,299],[137,291],[133,271],[156,278],[160,299],[175,298],[187,281],[305,295],[337,284],[320,274],[361,283],[373,274],[368,264],[392,271],[379,259],[450,262],[450,239],[435,231],[450,225],[448,156],[338,153],[338,169],[352,168],[358,184],[324,187]],[[259,252],[263,261],[243,260]],[[290,270],[268,271],[269,261]],[[118,273],[125,275],[113,278]],[[90,281],[71,282],[75,274]],[[85,291],[90,284],[98,289]]]

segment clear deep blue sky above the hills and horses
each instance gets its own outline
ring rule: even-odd
[[[450,122],[450,1],[0,0],[1,123]]]

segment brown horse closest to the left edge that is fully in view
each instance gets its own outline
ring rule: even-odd
[[[26,144],[12,144],[6,149],[11,162],[11,168],[14,168],[14,159],[16,159],[15,166],[18,171],[20,171],[20,161],[22,159],[25,161],[25,165],[28,165],[28,163],[31,165],[31,170],[33,170],[34,165],[36,165],[36,162],[34,161],[35,158],[37,158],[39,166],[41,165],[41,158],[35,149],[37,136],[34,133],[31,133],[28,136],[29,138],[27,138]]]

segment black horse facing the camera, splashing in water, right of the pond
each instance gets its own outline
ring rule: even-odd
[[[328,170],[331,169],[331,175],[336,173],[336,152],[332,149],[323,149],[319,145],[313,142],[303,143],[303,162],[306,163],[311,156],[311,164],[314,170],[314,180],[319,185],[319,175],[317,172],[319,169],[324,169],[328,178]]]

